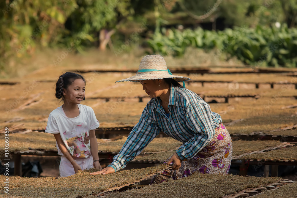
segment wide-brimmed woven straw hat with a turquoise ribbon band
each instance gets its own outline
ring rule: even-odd
[[[188,77],[172,75],[169,69],[167,69],[163,56],[152,54],[143,57],[135,76],[118,80],[116,83],[124,81],[139,82],[140,80],[155,80],[163,78],[173,78],[178,82],[191,80]]]

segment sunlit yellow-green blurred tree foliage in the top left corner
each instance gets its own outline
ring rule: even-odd
[[[5,57],[0,62],[2,68],[7,68],[4,62],[14,55],[32,54],[35,43],[48,46],[60,41],[66,18],[77,6],[74,0],[67,1],[0,2],[0,56]]]

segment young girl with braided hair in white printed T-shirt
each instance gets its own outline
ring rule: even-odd
[[[91,107],[80,104],[85,99],[85,86],[83,76],[72,72],[61,75],[56,83],[56,98],[62,98],[64,104],[50,113],[45,132],[56,138],[62,156],[61,177],[93,167],[102,169],[94,130],[99,122]]]

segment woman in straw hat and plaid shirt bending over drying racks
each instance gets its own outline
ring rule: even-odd
[[[194,92],[183,88],[178,81],[191,80],[172,75],[160,55],[147,55],[135,76],[117,82],[140,82],[152,98],[143,110],[124,146],[113,162],[101,171],[108,174],[124,168],[161,131],[183,143],[167,161],[171,170],[155,178],[182,178],[199,171],[228,174],[232,158],[232,141],[219,114]]]

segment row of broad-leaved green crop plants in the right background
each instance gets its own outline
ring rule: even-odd
[[[226,29],[207,31],[202,28],[163,30],[148,40],[154,53],[182,56],[187,47],[204,50],[216,48],[217,56],[225,52],[229,57],[236,56],[245,64],[257,66],[297,66],[297,29],[256,28]]]

